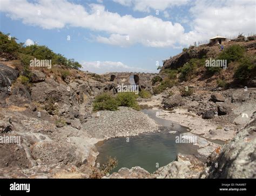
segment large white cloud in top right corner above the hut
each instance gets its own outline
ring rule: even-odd
[[[218,1],[219,2],[219,1]],[[255,1],[196,1],[190,9],[192,30],[184,34],[180,44],[210,37],[233,36],[239,32],[255,33]]]

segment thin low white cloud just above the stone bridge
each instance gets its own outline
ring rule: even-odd
[[[139,67],[130,67],[123,62],[114,61],[82,61],[83,71],[89,71],[93,73],[106,73],[106,72],[156,72],[151,69],[144,69]]]

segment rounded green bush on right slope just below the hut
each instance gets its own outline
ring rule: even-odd
[[[237,61],[244,57],[245,48],[240,45],[232,45],[230,47],[224,48],[224,51],[221,52],[217,59],[227,60],[227,64],[232,61]]]

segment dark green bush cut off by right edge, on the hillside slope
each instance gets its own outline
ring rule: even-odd
[[[256,76],[256,58],[244,57],[239,60],[239,66],[235,69],[234,79],[240,82],[246,82],[247,80]]]

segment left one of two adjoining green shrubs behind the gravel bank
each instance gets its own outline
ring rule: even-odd
[[[93,101],[93,111],[97,110],[118,110],[118,102],[108,93],[97,95]]]

